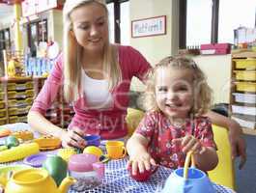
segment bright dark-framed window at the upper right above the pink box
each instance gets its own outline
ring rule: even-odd
[[[180,48],[234,42],[234,29],[256,27],[256,1],[180,0]]]

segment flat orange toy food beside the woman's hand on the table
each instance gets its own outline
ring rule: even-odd
[[[48,135],[34,139],[34,142],[39,145],[39,149],[41,151],[54,150],[60,148],[61,146],[61,140],[59,138]]]

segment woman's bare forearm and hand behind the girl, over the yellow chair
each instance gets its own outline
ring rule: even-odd
[[[242,166],[246,162],[246,144],[242,138],[242,128],[240,124],[236,121],[209,111],[206,116],[208,116],[213,124],[223,126],[229,130],[229,139],[232,147],[232,156],[241,156],[241,162],[239,168],[242,169]]]

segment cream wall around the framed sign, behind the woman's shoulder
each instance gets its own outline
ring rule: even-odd
[[[129,0],[130,21],[166,15],[166,35],[130,39],[130,45],[138,49],[152,65],[155,65],[163,57],[178,52],[178,2],[178,0]],[[144,86],[134,78],[130,89],[143,91]]]

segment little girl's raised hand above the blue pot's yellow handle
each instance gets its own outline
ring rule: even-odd
[[[173,139],[172,142],[180,142],[183,147],[182,151],[184,153],[192,151],[194,153],[202,154],[203,152],[206,151],[206,149],[201,145],[200,141],[196,139],[193,135],[187,134],[183,138]]]

